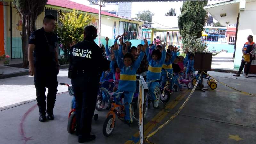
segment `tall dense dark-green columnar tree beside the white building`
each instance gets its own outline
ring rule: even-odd
[[[186,1],[180,9],[178,27],[182,36],[183,52],[207,52],[207,44],[200,39],[204,25],[207,23],[208,15],[204,10],[208,1]]]

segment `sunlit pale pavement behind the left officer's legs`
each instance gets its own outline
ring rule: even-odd
[[[14,68],[14,67],[11,67]],[[67,69],[61,69],[58,82],[71,84]],[[34,78],[29,75],[0,79],[0,109],[36,99]],[[58,85],[58,93],[66,92],[67,86]],[[48,90],[46,89],[46,94]],[[8,99],[7,99],[8,98]]]

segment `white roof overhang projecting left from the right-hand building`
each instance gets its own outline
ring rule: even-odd
[[[222,3],[205,6],[206,12],[210,13],[222,26],[236,24],[239,13],[240,0],[231,0]]]

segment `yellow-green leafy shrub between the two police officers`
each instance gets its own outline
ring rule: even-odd
[[[69,53],[72,43],[83,41],[84,28],[90,24],[90,21],[91,15],[75,9],[72,12],[60,13],[60,25],[57,25],[57,34],[64,49],[64,54]]]

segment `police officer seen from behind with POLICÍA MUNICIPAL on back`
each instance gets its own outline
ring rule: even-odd
[[[84,41],[70,48],[69,78],[76,98],[76,134],[78,142],[94,140],[91,135],[92,116],[99,89],[102,71],[108,71],[110,61],[103,50],[94,42],[97,29],[94,26],[84,28]]]

